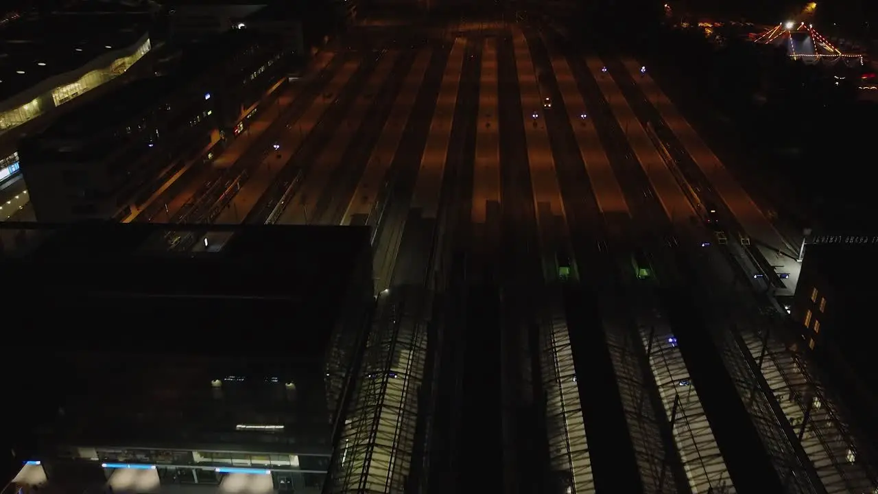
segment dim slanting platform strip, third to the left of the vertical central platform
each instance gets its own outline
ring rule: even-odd
[[[314,222],[313,215],[311,217],[308,215],[308,209],[310,208],[313,212],[321,194],[334,192],[333,185],[329,184],[329,178],[335,168],[340,166],[342,155],[358,132],[373,98],[381,85],[385,84],[387,76],[390,75],[393,64],[399,57],[399,52],[387,51],[380,56],[378,67],[370,74],[364,90],[356,96],[349,113],[336,128],[333,138],[314,163],[308,165],[312,167],[311,170],[306,174],[299,192],[293,196],[291,205],[286,208],[278,223],[306,224]],[[334,91],[333,88],[328,88],[327,91],[331,94],[337,94],[337,90]]]

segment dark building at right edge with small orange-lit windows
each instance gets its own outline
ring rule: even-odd
[[[862,263],[878,253],[878,236],[817,236],[806,247],[791,316],[801,345],[852,403],[854,416],[878,440],[878,371],[872,331],[878,287]]]

